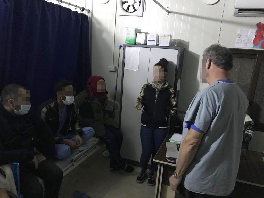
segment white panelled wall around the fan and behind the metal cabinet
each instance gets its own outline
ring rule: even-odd
[[[107,69],[113,63],[117,66],[118,49],[114,46],[124,44],[126,27],[136,27],[149,33],[169,33],[173,40],[179,40],[179,46],[185,48],[179,98],[179,110],[183,111],[195,94],[208,86],[199,82],[199,60],[203,50],[218,42],[234,48],[238,28],[256,29],[256,23],[264,19],[234,17],[235,0],[220,0],[215,5],[206,5],[202,0],[158,0],[164,7],[169,6],[170,11],[176,12],[169,13],[169,16],[165,16],[165,11],[152,0],[146,0],[143,17],[116,15],[116,7],[120,9],[119,0],[110,0],[107,4],[100,4],[98,0],[68,1],[80,6],[86,3],[86,7],[92,10],[92,74],[106,79],[109,98],[114,98],[116,73]],[[122,50],[120,57],[121,67]],[[117,87],[117,101],[120,101],[121,70]]]

